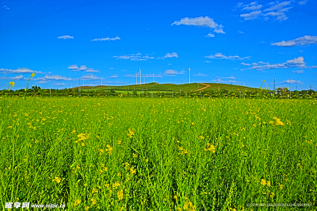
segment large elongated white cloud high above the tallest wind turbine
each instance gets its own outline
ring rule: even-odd
[[[175,21],[171,24],[172,25],[187,25],[187,26],[197,26],[197,27],[208,27],[208,28],[214,28],[214,32],[216,33],[222,33],[225,34],[223,31],[223,25],[219,25],[216,22],[214,22],[213,18],[210,18],[208,16],[201,16],[197,18],[181,18],[180,21]],[[208,35],[207,35],[208,36]],[[212,37],[211,35],[208,37]]]

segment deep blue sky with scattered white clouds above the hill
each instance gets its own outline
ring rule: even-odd
[[[12,1],[0,8],[0,89],[227,83],[317,89],[317,2]],[[145,76],[145,78],[143,77]],[[139,79],[138,79],[139,81]],[[266,83],[263,85],[266,88]]]

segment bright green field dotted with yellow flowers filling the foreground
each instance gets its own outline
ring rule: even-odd
[[[1,97],[1,206],[316,210],[316,105],[316,99]]]

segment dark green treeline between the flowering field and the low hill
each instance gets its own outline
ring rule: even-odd
[[[41,89],[39,86],[32,86],[31,89],[25,90],[0,90],[2,96],[43,96],[43,97],[62,97],[73,96],[78,97],[78,89]],[[218,98],[316,98],[317,92],[314,90],[290,91],[288,88],[277,88],[273,90],[258,89],[257,91],[248,90],[201,90],[187,92],[160,92],[152,91],[132,91],[120,93],[115,90],[81,90],[81,97],[218,97]]]

